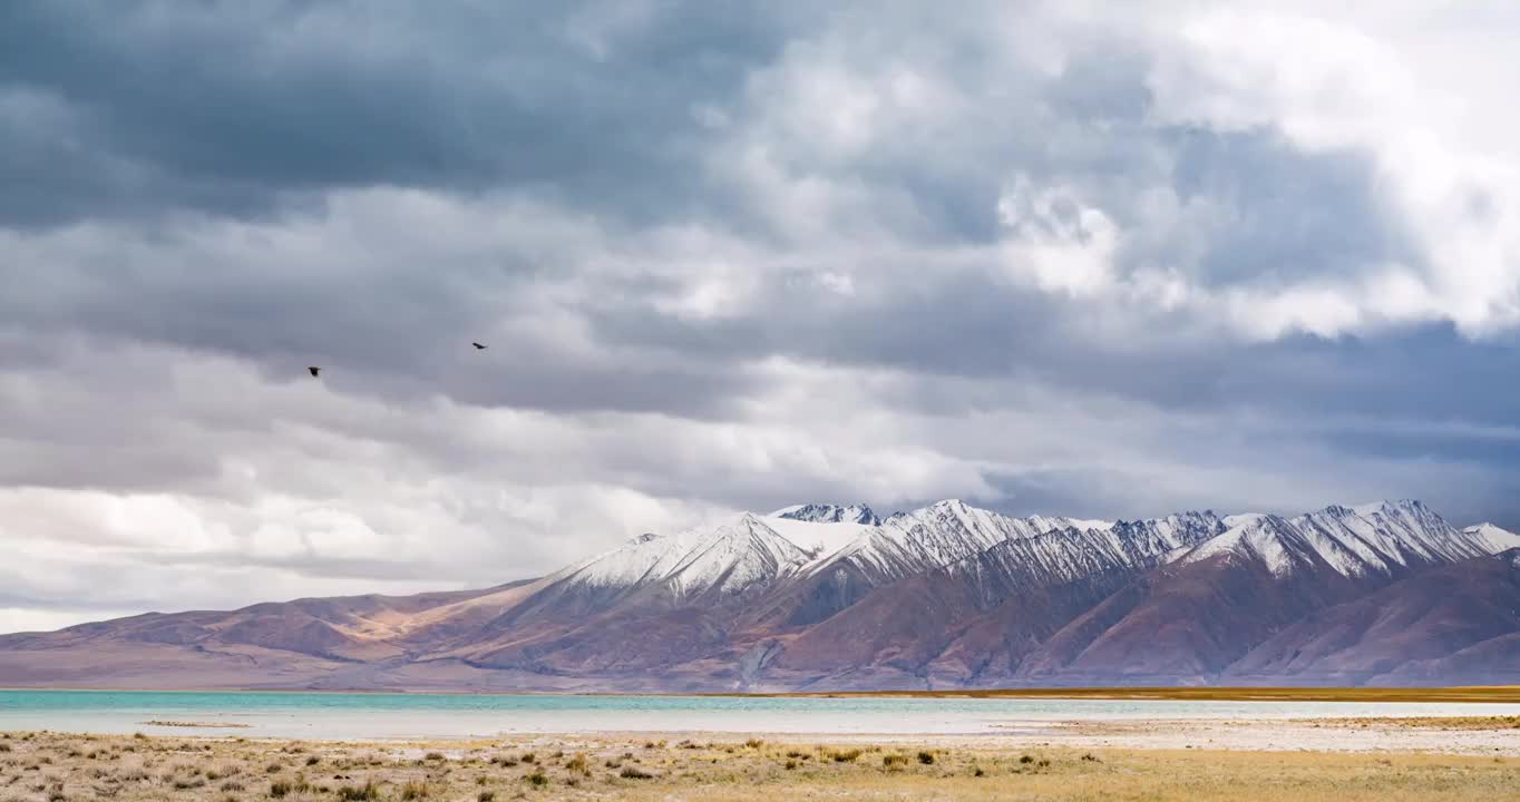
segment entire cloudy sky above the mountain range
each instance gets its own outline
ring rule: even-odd
[[[0,632],[489,586],[803,501],[1520,529],[1517,33],[0,3]]]

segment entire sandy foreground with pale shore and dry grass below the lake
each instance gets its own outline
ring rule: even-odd
[[[1110,721],[1035,735],[289,741],[0,734],[0,800],[1520,799],[1512,720]]]

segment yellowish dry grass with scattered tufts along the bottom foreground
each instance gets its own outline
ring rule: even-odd
[[[681,746],[602,738],[306,743],[24,734],[0,800],[1520,799],[1520,759],[1423,753],[1076,750],[872,744]],[[540,759],[500,759],[502,755]],[[269,766],[296,753],[315,767]],[[94,756],[88,756],[94,755]],[[304,763],[304,761],[299,761]]]

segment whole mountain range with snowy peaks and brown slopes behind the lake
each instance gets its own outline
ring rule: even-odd
[[[0,687],[833,691],[1520,676],[1520,536],[1420,501],[742,513],[479,591],[0,636]]]

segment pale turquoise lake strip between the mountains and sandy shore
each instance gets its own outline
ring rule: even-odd
[[[1514,703],[1099,699],[757,699],[383,693],[0,691],[0,731],[264,738],[489,738],[512,734],[774,732],[986,735],[1113,718],[1520,715]],[[172,728],[160,721],[246,725]]]

